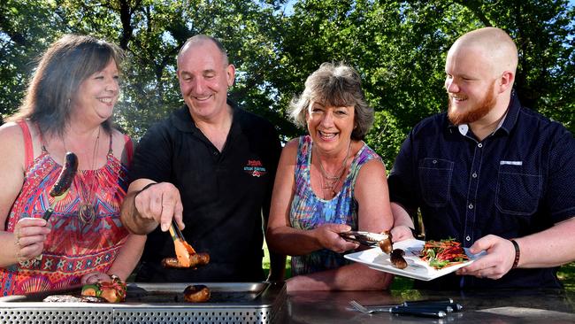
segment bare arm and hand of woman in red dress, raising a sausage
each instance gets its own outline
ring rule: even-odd
[[[50,228],[42,219],[20,220],[14,233],[7,232],[5,228],[12,204],[24,183],[24,148],[22,131],[17,124],[7,123],[0,127],[0,266],[11,266],[40,255],[45,236],[50,233]]]

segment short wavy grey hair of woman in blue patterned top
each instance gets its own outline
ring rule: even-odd
[[[343,63],[322,63],[305,81],[301,96],[289,104],[289,115],[295,125],[306,126],[306,114],[311,102],[330,106],[354,106],[355,120],[351,139],[363,140],[373,124],[373,108],[365,102],[359,73]]]

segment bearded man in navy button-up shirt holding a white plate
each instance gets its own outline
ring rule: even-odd
[[[561,287],[575,259],[575,140],[519,103],[517,48],[502,29],[460,37],[445,66],[449,109],[420,122],[388,185],[394,238],[420,209],[427,240],[456,238],[487,254],[426,289]]]

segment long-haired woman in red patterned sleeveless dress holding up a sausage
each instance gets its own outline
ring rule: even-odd
[[[19,112],[0,127],[0,295],[126,280],[143,236],[119,221],[129,137],[111,127],[121,50],[65,35],[44,53]],[[50,189],[74,152],[78,174],[48,221]]]

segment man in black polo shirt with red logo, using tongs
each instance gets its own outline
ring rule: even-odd
[[[220,42],[196,35],[178,54],[185,105],[149,128],[131,168],[135,179],[121,220],[148,234],[139,282],[257,282],[264,280],[263,220],[267,220],[280,158],[274,127],[227,100],[235,68]],[[165,231],[175,220],[211,261],[197,269],[166,269],[174,257]],[[160,225],[158,227],[157,225]],[[272,255],[270,279],[283,276],[285,258]]]

